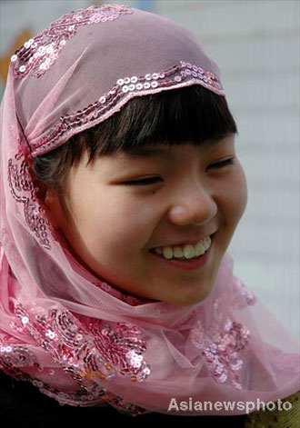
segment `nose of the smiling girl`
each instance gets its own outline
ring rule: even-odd
[[[175,194],[175,200],[168,211],[168,219],[176,225],[203,225],[215,217],[217,204],[213,194],[202,184],[183,186]]]

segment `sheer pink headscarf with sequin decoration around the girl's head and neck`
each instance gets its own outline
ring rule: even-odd
[[[132,97],[187,85],[225,96],[194,35],[124,5],[64,15],[12,56],[1,105],[0,367],[60,403],[168,413],[173,397],[269,402],[299,389],[297,343],[234,276],[229,254],[200,304],[147,302],[78,264],[35,195],[36,155]]]

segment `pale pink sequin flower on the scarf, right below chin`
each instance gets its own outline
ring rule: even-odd
[[[219,300],[215,300],[213,311],[215,323],[206,326],[197,320],[191,332],[191,342],[200,350],[207,368],[215,382],[231,383],[242,389],[240,374],[243,368],[243,351],[248,343],[250,332],[241,323],[228,317],[223,319]]]

